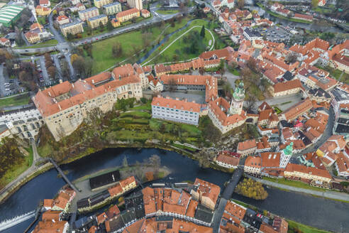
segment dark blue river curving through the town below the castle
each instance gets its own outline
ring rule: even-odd
[[[69,170],[67,177],[74,180],[104,168],[121,166],[125,156],[128,159],[128,163],[133,164],[135,161],[142,162],[143,159],[149,158],[153,154],[159,155],[162,165],[172,170],[170,177],[174,179],[165,178],[169,182],[194,181],[197,177],[208,180],[211,183],[216,183],[223,188],[223,183],[230,177],[229,174],[218,170],[211,168],[202,169],[199,167],[197,161],[182,156],[179,153],[155,148],[144,148],[140,150],[135,148],[106,148],[103,151],[62,166],[62,170]],[[23,185],[21,189],[11,195],[0,206],[0,220],[12,218],[16,215],[34,210],[39,200],[54,197],[55,193],[63,185],[65,185],[65,182],[62,178],[57,178],[57,171],[54,169],[38,175],[26,183],[26,185]],[[263,201],[252,200],[237,194],[234,194],[233,198],[260,207],[263,210],[269,210],[276,215],[281,215],[321,229],[327,229],[333,232],[345,232],[345,229],[349,229],[349,203],[336,202],[301,193],[291,193],[275,188],[268,188],[267,191],[269,197]],[[30,222],[31,220],[22,222],[16,225],[16,227],[7,229],[4,232],[23,232]]]

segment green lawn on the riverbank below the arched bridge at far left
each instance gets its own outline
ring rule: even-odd
[[[29,152],[28,156],[25,156],[23,163],[13,166],[11,170],[8,170],[3,177],[0,179],[0,188],[6,186],[12,180],[16,179],[18,175],[21,175],[25,170],[27,170],[33,163],[33,149],[26,148]]]

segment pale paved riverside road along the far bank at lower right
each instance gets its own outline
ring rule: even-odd
[[[282,189],[291,190],[291,191],[299,192],[299,193],[307,193],[307,194],[316,195],[319,197],[326,197],[326,198],[331,198],[331,199],[349,201],[349,195],[346,193],[339,193],[339,192],[330,191],[330,190],[325,190],[325,191],[321,192],[321,191],[316,191],[316,190],[309,190],[306,188],[297,188],[297,187],[292,187],[289,185],[283,185],[283,184],[275,183],[275,182],[272,182],[269,180],[262,180],[259,178],[255,178],[255,177],[249,176],[249,175],[248,175],[248,177],[252,178],[253,180],[257,180],[258,182],[263,183],[265,185],[270,185],[270,186],[276,187],[276,188],[282,188]]]

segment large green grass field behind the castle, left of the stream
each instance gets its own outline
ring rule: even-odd
[[[174,27],[167,27],[169,24],[165,25],[165,27],[153,27],[149,29],[149,33],[151,35],[151,40],[161,40],[163,35],[160,36],[162,31],[165,29],[165,33],[172,33],[178,28],[182,28],[185,24],[187,24],[188,18],[183,18],[182,22],[175,23]],[[165,34],[164,33],[164,34]],[[121,47],[123,49],[123,54],[118,58],[113,58],[111,50],[113,48],[114,43],[121,43]],[[126,58],[133,55],[135,47],[143,48],[143,38],[141,31],[131,31],[129,33],[124,33],[120,36],[113,36],[112,38],[108,38],[106,40],[101,40],[99,42],[92,44],[92,56],[94,60],[94,65],[92,68],[93,74],[99,73],[103,70],[108,69],[109,67],[115,65],[116,63],[125,60]],[[150,46],[149,46],[150,47]],[[151,48],[151,47],[150,47]],[[149,48],[149,49],[150,49]]]

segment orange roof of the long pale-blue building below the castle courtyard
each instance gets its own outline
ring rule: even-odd
[[[170,97],[153,97],[152,106],[169,107],[171,109],[179,109],[189,112],[200,112],[201,104],[178,99],[171,99]]]

